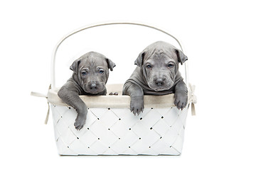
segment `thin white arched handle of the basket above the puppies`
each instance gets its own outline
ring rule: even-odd
[[[51,59],[51,72],[50,72],[51,73],[50,83],[51,83],[52,89],[55,89],[55,57],[56,57],[56,54],[57,54],[58,47],[60,47],[61,43],[64,40],[66,40],[67,38],[69,38],[71,35],[74,35],[75,33],[79,33],[82,30],[87,30],[89,28],[95,28],[95,27],[99,27],[99,26],[110,26],[110,25],[135,25],[135,26],[144,26],[144,27],[152,28],[154,30],[159,30],[161,33],[165,33],[166,35],[171,36],[171,38],[174,38],[174,40],[176,40],[176,42],[178,42],[178,45],[181,47],[181,51],[183,52],[183,48],[181,46],[181,42],[179,42],[178,39],[174,37],[174,35],[171,35],[171,34],[167,33],[164,30],[161,30],[161,29],[156,28],[154,26],[146,25],[144,23],[111,22],[111,23],[97,23],[97,24],[93,24],[93,25],[90,25],[90,26],[85,26],[85,27],[79,28],[77,30],[74,30],[73,32],[69,33],[68,35],[65,35],[63,38],[60,39],[58,44],[55,46],[55,49],[53,50],[52,59]],[[185,79],[186,79],[186,84],[188,84],[187,67],[188,67],[188,64],[185,62]]]

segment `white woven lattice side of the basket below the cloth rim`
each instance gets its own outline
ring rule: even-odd
[[[82,130],[75,130],[77,113],[67,106],[53,111],[55,141],[61,155],[179,155],[188,106],[145,108],[134,116],[129,108],[89,108]]]

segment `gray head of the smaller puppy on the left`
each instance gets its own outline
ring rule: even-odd
[[[106,89],[105,85],[116,65],[110,59],[97,52],[88,52],[75,60],[70,66],[73,78],[89,94],[98,94]]]

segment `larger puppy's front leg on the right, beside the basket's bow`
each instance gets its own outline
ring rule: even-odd
[[[184,81],[179,81],[175,86],[175,94],[174,94],[174,105],[181,110],[186,107],[188,103],[188,89]]]

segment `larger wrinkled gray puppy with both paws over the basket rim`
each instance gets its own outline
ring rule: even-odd
[[[175,94],[174,104],[183,109],[188,103],[188,89],[178,72],[178,63],[186,55],[167,42],[154,42],[146,47],[134,64],[137,68],[124,83],[122,94],[131,97],[130,110],[136,115],[144,110],[144,94]]]

